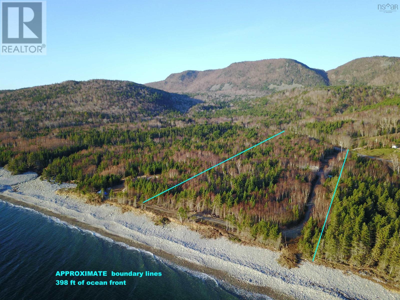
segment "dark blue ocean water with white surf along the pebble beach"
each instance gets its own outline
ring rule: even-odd
[[[62,270],[162,272],[160,277],[62,277]],[[56,280],[68,285],[56,285]],[[78,280],[126,280],[126,286],[78,286]],[[76,285],[70,285],[76,280]],[[199,272],[57,218],[0,200],[0,299],[250,299]],[[265,297],[268,298],[268,297]]]

